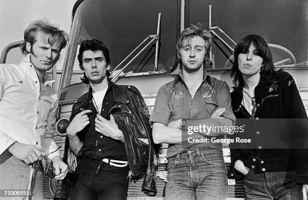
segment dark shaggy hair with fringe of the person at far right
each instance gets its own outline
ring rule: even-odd
[[[265,39],[260,35],[247,35],[238,42],[234,49],[234,62],[230,77],[233,78],[235,86],[244,85],[244,79],[239,70],[239,54],[247,51],[251,44],[254,45],[258,55],[263,59],[263,67],[260,73],[271,74],[275,72],[273,55]]]

